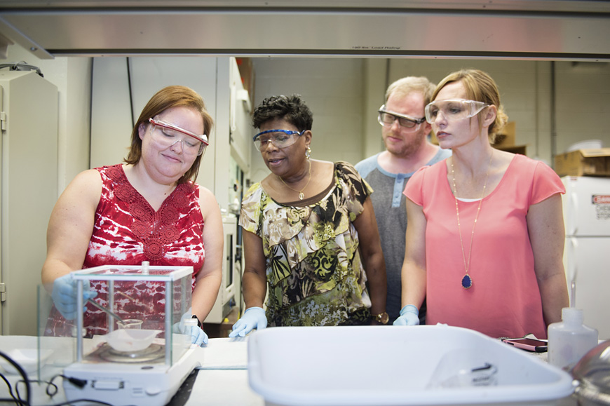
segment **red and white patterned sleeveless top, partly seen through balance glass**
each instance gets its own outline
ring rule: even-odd
[[[102,177],[102,194],[95,211],[93,234],[83,269],[100,265],[193,266],[191,287],[205,260],[203,215],[199,187],[194,182],[179,184],[155,211],[129,183],[123,165],[96,168]],[[115,289],[114,311],[122,318],[146,320],[156,329],[163,324],[165,297],[162,283],[142,282]],[[95,301],[107,306],[107,286],[93,283]],[[132,298],[132,299],[129,299]],[[135,298],[135,299],[134,299]],[[152,316],[151,316],[152,315]],[[88,335],[105,334],[107,316],[90,304],[84,314]],[[65,320],[53,308],[46,335],[72,335],[75,320]]]

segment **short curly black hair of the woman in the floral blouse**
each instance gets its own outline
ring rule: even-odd
[[[252,112],[252,126],[261,128],[266,121],[285,119],[299,131],[311,130],[313,114],[301,100],[301,95],[271,96],[261,102]]]

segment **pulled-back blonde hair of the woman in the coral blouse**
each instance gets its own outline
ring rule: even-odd
[[[435,100],[438,92],[440,92],[442,88],[453,82],[461,82],[463,84],[466,89],[466,97],[469,100],[496,106],[496,119],[489,126],[488,131],[489,142],[493,144],[496,141],[498,133],[506,126],[506,123],[508,123],[508,116],[500,104],[500,91],[498,90],[496,82],[492,79],[492,76],[489,76],[489,74],[478,69],[461,69],[447,75],[445,79],[442,79],[442,81],[438,83],[438,86],[436,86],[432,95],[432,100]],[[478,114],[479,129],[482,128],[483,111]]]

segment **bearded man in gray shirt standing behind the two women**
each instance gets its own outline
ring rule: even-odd
[[[434,88],[424,77],[408,76],[392,83],[386,90],[386,102],[378,116],[386,150],[355,165],[374,190],[371,201],[386,260],[389,324],[398,318],[402,309],[400,273],[407,230],[402,191],[416,170],[451,156],[451,151],[428,142],[431,126],[424,119],[423,108],[430,102]],[[425,301],[419,309],[419,318],[424,324]]]

